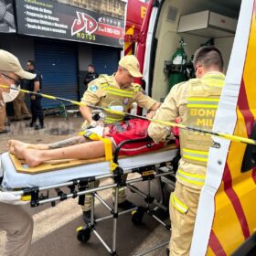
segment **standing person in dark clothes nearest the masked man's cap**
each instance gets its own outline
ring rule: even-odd
[[[27,70],[30,73],[37,74],[34,80],[29,80],[28,90],[40,93],[42,90],[42,74],[35,69],[35,62],[32,60],[27,60]],[[41,105],[42,97],[39,95],[30,96],[30,108],[32,114],[32,120],[29,124],[30,127],[34,127],[35,130],[44,129],[44,112]],[[39,125],[37,124],[37,118],[39,120]]]

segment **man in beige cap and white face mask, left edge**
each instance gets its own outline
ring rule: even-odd
[[[19,79],[32,80],[36,75],[23,70],[18,59],[0,50],[0,84],[16,86]],[[5,110],[5,96],[9,89],[0,88],[0,112]],[[8,98],[8,97],[6,97]],[[0,166],[1,177],[1,166]],[[5,256],[27,256],[33,233],[33,219],[21,206],[20,196],[0,191],[0,229],[6,231]]]

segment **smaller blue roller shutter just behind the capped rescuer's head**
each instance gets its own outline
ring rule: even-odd
[[[108,74],[116,72],[118,61],[120,59],[120,48],[93,47],[92,61],[95,71],[99,74]]]

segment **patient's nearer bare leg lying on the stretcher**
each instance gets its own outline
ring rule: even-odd
[[[115,147],[112,144],[112,150],[114,149]],[[27,165],[30,167],[35,167],[49,160],[92,159],[105,155],[105,151],[103,142],[94,141],[87,144],[76,144],[52,150],[37,150],[15,146],[15,154],[25,159]]]

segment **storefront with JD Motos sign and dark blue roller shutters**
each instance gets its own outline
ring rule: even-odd
[[[49,0],[16,0],[13,7],[16,27],[5,27],[0,48],[16,54],[22,65],[27,59],[36,61],[44,93],[79,101],[89,64],[98,73],[117,69],[123,19]],[[43,101],[44,108],[58,104]]]

